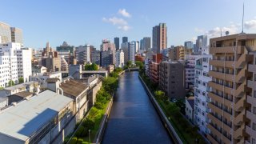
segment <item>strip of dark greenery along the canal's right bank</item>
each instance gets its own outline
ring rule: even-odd
[[[202,136],[198,134],[198,127],[191,126],[186,118],[184,118],[184,116],[181,114],[179,101],[175,103],[170,102],[166,94],[159,90],[158,85],[151,82],[150,78],[148,78],[146,74],[141,71],[140,76],[149,87],[152,94],[154,94],[154,98],[157,100],[159,106],[161,106],[172,126],[174,126],[174,129],[182,139],[182,142],[206,143]]]

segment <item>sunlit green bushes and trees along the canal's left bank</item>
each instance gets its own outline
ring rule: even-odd
[[[102,88],[96,94],[96,102],[94,103],[94,106],[90,109],[89,114],[87,114],[86,118],[82,121],[82,125],[78,127],[74,137],[71,138],[70,144],[86,144],[93,142],[94,138],[98,134],[102,118],[106,113],[106,108],[112,98],[111,94],[114,94],[117,87],[118,78],[108,77],[103,80]],[[70,138],[67,137],[64,143],[66,143],[69,139]]]

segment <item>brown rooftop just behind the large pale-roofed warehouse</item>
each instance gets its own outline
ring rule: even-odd
[[[88,86],[86,86],[82,82],[78,82],[73,79],[70,79],[70,80],[67,80],[66,82],[62,82],[60,85],[60,88],[62,88],[64,93],[70,94],[74,97],[78,97],[78,95],[81,94],[84,90],[86,90]]]

